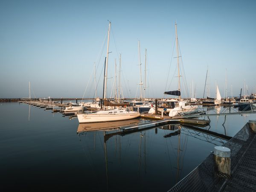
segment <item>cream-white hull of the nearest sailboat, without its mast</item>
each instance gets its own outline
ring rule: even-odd
[[[78,114],[77,118],[79,123],[92,123],[92,122],[111,122],[122,121],[128,119],[135,119],[140,116],[136,111],[125,110],[109,110],[98,111],[96,113]]]

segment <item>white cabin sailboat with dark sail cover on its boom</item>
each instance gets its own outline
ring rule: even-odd
[[[179,65],[179,49],[178,49],[178,36],[177,36],[177,24],[175,23],[176,31],[176,49],[177,49],[177,68],[178,68],[178,90],[167,91],[164,94],[179,96],[179,99],[166,99],[158,101],[157,111],[169,113],[169,116],[184,116],[198,112],[197,105],[189,105],[187,101],[183,101],[180,96],[180,65]],[[155,113],[155,108],[152,107],[148,113]]]

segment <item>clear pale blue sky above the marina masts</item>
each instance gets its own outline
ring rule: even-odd
[[[144,85],[151,98],[177,90],[175,23],[182,97],[215,97],[216,84],[222,97],[256,92],[255,10],[254,0],[1,0],[0,98],[28,97],[29,82],[32,98],[95,97],[94,63],[102,97],[108,20],[108,97],[120,54],[124,97],[140,97],[140,67],[143,97]]]

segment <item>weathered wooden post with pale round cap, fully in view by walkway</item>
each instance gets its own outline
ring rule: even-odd
[[[219,177],[231,176],[230,149],[222,146],[214,147],[214,161],[218,168]]]

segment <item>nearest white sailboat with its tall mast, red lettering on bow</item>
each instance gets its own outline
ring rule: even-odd
[[[106,90],[107,90],[107,74],[108,74],[108,48],[109,48],[109,35],[110,35],[111,22],[108,26],[108,46],[107,46],[107,57],[105,62],[105,74],[104,74],[104,92],[103,92],[103,101],[106,99]],[[140,113],[137,111],[128,111],[128,108],[123,109],[113,109],[105,110],[106,102],[104,104],[104,111],[97,111],[96,113],[84,113],[78,114],[77,118],[79,123],[92,123],[92,122],[112,122],[112,121],[122,121],[128,119],[135,119],[140,116]]]

